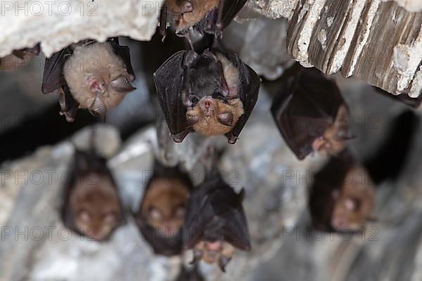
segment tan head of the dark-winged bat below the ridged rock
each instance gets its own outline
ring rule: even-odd
[[[349,126],[344,122],[347,115],[346,105],[340,105],[333,124],[324,131],[322,136],[313,141],[314,151],[327,155],[338,155],[345,150],[347,140],[350,139]]]

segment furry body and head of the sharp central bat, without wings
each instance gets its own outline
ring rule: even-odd
[[[229,133],[243,115],[239,73],[221,53],[186,53],[186,120],[203,135]]]

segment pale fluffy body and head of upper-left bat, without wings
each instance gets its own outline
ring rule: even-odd
[[[108,43],[76,46],[65,63],[64,77],[79,107],[94,115],[116,107],[135,89],[130,84],[134,75]]]

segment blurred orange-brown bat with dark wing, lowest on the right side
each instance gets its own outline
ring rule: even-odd
[[[312,223],[318,230],[357,232],[371,219],[374,202],[375,185],[366,169],[343,152],[314,177]]]

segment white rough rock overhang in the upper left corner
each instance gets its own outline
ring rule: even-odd
[[[3,1],[0,57],[41,42],[46,56],[82,39],[128,36],[149,40],[162,0]]]

